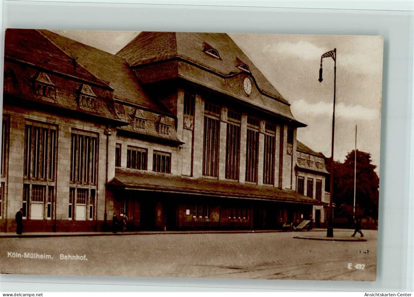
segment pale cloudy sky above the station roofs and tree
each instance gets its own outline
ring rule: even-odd
[[[55,31],[58,34],[116,53],[140,32]],[[371,153],[379,174],[383,38],[380,36],[229,34],[282,96],[294,117],[307,124],[297,139],[331,156],[334,61],[320,57],[337,49],[335,151],[344,161],[355,147]]]

